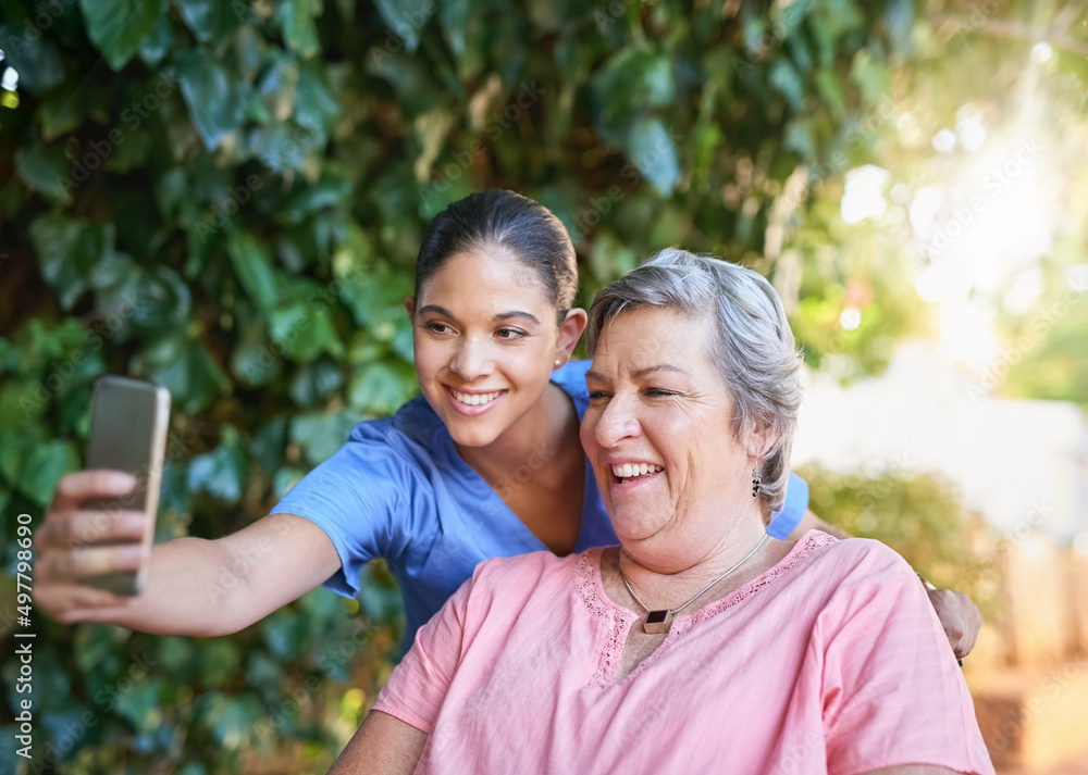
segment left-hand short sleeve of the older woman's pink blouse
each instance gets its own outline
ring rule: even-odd
[[[378,695],[374,710],[431,734],[465,642],[465,616],[474,576],[416,632],[411,649]]]

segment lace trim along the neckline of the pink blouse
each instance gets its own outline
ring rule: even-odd
[[[761,574],[756,578],[753,578],[740,589],[730,592],[720,600],[716,600],[694,613],[681,614],[677,616],[672,621],[672,629],[669,632],[668,636],[666,636],[665,640],[662,641],[662,645],[658,646],[652,654],[639,663],[639,665],[636,665],[635,668],[623,678],[623,680],[641,673],[646,665],[653,664],[658,654],[667,649],[672,641],[683,636],[700,622],[705,622],[715,614],[721,613],[726,609],[732,608],[733,605],[747,600],[764,587],[772,584],[779,576],[789,571],[791,567],[806,560],[814,551],[830,543],[834,543],[836,540],[838,539],[821,530],[809,530],[800,541],[798,541],[798,545],[790,550],[790,553],[774,567],[767,570],[765,573]],[[610,599],[602,599],[602,596],[606,597],[604,584],[601,578],[602,553],[603,549],[601,548],[583,552],[578,559],[578,567],[574,573],[578,584],[578,596],[582,599],[582,603],[585,605],[586,610],[593,616],[604,618],[611,625],[597,658],[597,668],[591,679],[591,683],[597,686],[611,686],[616,684],[616,673],[619,670],[620,660],[623,657],[623,646],[627,643],[628,633],[631,629],[631,625],[634,624],[636,620],[641,618],[641,615],[630,609],[626,609],[622,605],[613,602]]]

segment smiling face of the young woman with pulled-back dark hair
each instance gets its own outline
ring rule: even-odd
[[[569,352],[533,270],[500,252],[450,257],[406,307],[423,396],[465,447],[524,417]]]

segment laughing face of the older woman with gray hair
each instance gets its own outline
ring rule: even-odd
[[[623,312],[602,333],[586,382],[582,447],[628,550],[709,550],[728,528],[724,511],[757,509],[707,322]]]

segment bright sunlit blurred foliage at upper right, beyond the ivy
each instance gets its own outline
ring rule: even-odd
[[[970,377],[972,398],[1088,407],[1088,7],[965,0],[922,13],[908,66],[889,68],[883,101],[844,126],[883,175],[878,207],[844,223],[855,160],[809,167],[809,210],[776,286],[798,289],[783,298],[798,299],[808,360],[843,380],[923,335]],[[854,330],[839,325],[845,308]]]

